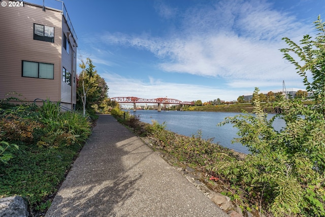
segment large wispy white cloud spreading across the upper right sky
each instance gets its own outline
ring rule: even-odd
[[[262,81],[284,79],[284,74],[291,73],[284,72],[287,67],[279,49],[286,46],[280,39],[288,30],[290,35],[301,34],[302,25],[294,17],[260,1],[217,2],[212,9],[192,8],[183,16],[188,27],[185,34],[152,38],[107,33],[103,38],[108,43],[149,50],[161,59],[159,66],[167,72]]]

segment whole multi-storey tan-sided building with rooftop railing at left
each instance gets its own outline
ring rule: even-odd
[[[15,91],[27,102],[48,98],[72,109],[76,104],[77,36],[63,2],[58,9],[39,2],[41,5],[7,0],[7,6],[2,2],[0,99]]]

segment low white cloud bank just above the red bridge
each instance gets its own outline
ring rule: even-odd
[[[238,98],[237,91],[225,91],[217,87],[161,82],[151,77],[149,77],[150,82],[147,83],[140,79],[125,78],[109,72],[102,73],[101,77],[108,83],[108,95],[110,98],[138,97],[155,99],[168,97],[169,99],[177,99],[180,101],[202,100],[203,102],[217,98],[229,101]]]

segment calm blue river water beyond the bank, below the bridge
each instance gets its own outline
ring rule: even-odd
[[[129,110],[128,110],[129,111]],[[232,139],[238,138],[237,128],[231,124],[217,127],[217,123],[222,122],[225,117],[235,116],[239,113],[232,112],[196,112],[196,111],[161,111],[156,110],[137,110],[131,114],[139,115],[142,122],[158,123],[166,122],[166,129],[184,136],[192,136],[202,131],[204,139],[214,138],[214,142],[224,147],[234,149],[242,153],[249,153],[247,147],[240,143],[232,144]],[[269,114],[272,117],[274,114]],[[282,119],[274,121],[274,128],[280,130],[285,126]]]

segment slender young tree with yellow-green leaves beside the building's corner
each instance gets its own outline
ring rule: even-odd
[[[101,105],[102,101],[107,98],[108,86],[103,78],[97,74],[95,66],[90,58],[86,59],[86,63],[81,59],[81,73],[77,78],[77,105],[82,106],[83,114],[86,109],[91,106]]]

